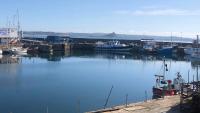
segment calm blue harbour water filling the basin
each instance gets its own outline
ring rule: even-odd
[[[3,57],[6,58],[5,56]],[[79,113],[152,98],[155,74],[162,74],[162,57],[130,54],[71,53],[19,57],[0,64],[0,113]],[[187,79],[195,65],[166,58],[167,78],[180,72]],[[190,77],[192,80],[192,77]]]

